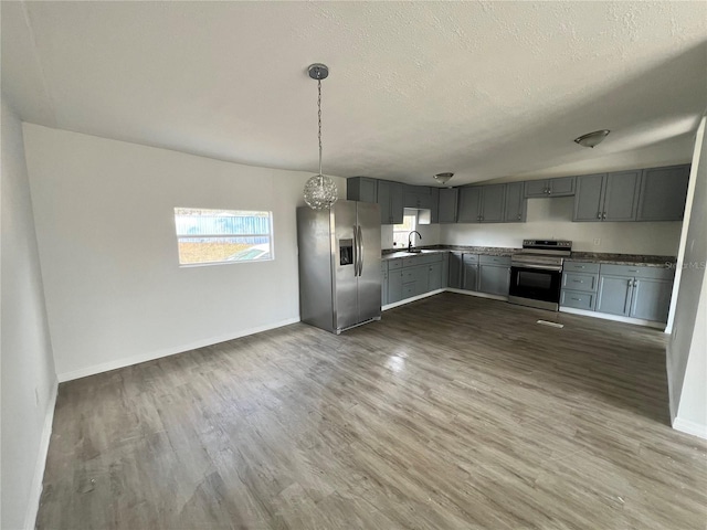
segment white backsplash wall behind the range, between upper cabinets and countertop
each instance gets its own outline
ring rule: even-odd
[[[570,240],[582,252],[677,255],[682,222],[573,223],[574,198],[529,199],[525,223],[442,224],[450,245],[520,247],[524,239]],[[600,244],[595,245],[594,240]]]

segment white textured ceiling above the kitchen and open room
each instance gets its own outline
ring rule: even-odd
[[[22,119],[235,162],[451,183],[688,161],[707,2],[2,2]],[[595,149],[581,134],[609,128]]]

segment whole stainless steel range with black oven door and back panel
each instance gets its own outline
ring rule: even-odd
[[[571,241],[524,241],[523,251],[511,256],[508,301],[557,311],[562,262],[571,253]]]

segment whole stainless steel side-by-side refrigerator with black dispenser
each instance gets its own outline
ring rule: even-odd
[[[299,316],[340,333],[380,320],[380,210],[337,201],[329,210],[297,209]]]

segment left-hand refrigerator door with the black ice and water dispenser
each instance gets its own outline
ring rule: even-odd
[[[334,211],[334,328],[341,330],[359,322],[358,230],[356,202],[337,201]]]

